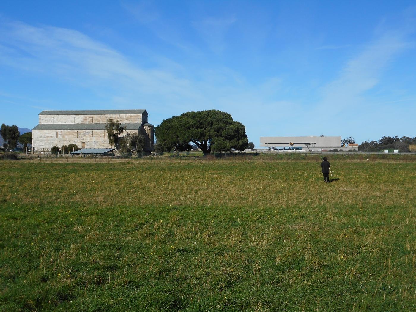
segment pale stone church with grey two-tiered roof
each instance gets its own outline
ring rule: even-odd
[[[79,148],[111,148],[106,122],[112,118],[126,127],[127,133],[143,134],[144,151],[154,151],[154,126],[147,122],[145,109],[92,110],[92,111],[41,111],[39,124],[32,130],[34,149],[51,149],[53,146],[77,144]]]

